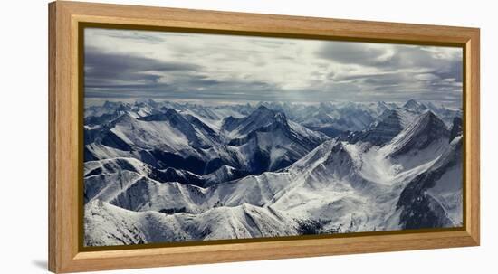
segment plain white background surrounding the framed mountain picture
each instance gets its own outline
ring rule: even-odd
[[[484,273],[498,249],[498,20],[493,1],[118,0],[265,14],[295,14],[481,28],[482,246],[110,273]],[[47,258],[47,0],[5,1],[0,15],[1,273],[43,273]],[[495,273],[495,272],[494,272]]]

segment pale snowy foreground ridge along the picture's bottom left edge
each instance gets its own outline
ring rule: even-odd
[[[296,223],[281,213],[249,204],[206,213],[134,213],[101,201],[85,206],[86,246],[148,242],[208,241],[296,234]]]

